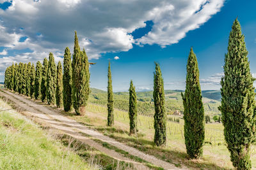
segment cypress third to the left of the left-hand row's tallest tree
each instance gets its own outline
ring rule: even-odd
[[[56,103],[56,64],[52,53],[49,53],[49,66],[47,71],[47,103]]]

